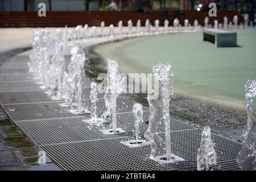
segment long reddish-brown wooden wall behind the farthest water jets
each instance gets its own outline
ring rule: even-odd
[[[232,21],[234,15],[238,15],[239,22],[242,16],[233,10],[225,10],[217,13],[217,17],[211,17],[209,23],[213,23],[215,19],[222,23],[224,16]],[[127,25],[127,21],[131,19],[135,24],[141,19],[142,25],[146,19],[150,19],[154,24],[155,19],[160,20],[163,24],[164,19],[172,22],[175,17],[180,19],[183,24],[184,19],[188,19],[192,24],[195,19],[200,24],[204,24],[204,18],[208,16],[203,11],[151,11],[148,14],[138,13],[136,11],[47,11],[46,17],[39,17],[37,11],[1,11],[0,27],[68,27],[77,26],[77,24],[88,24],[89,26],[100,26],[102,20],[105,25],[114,24],[117,26],[119,20],[123,20],[123,25]]]

